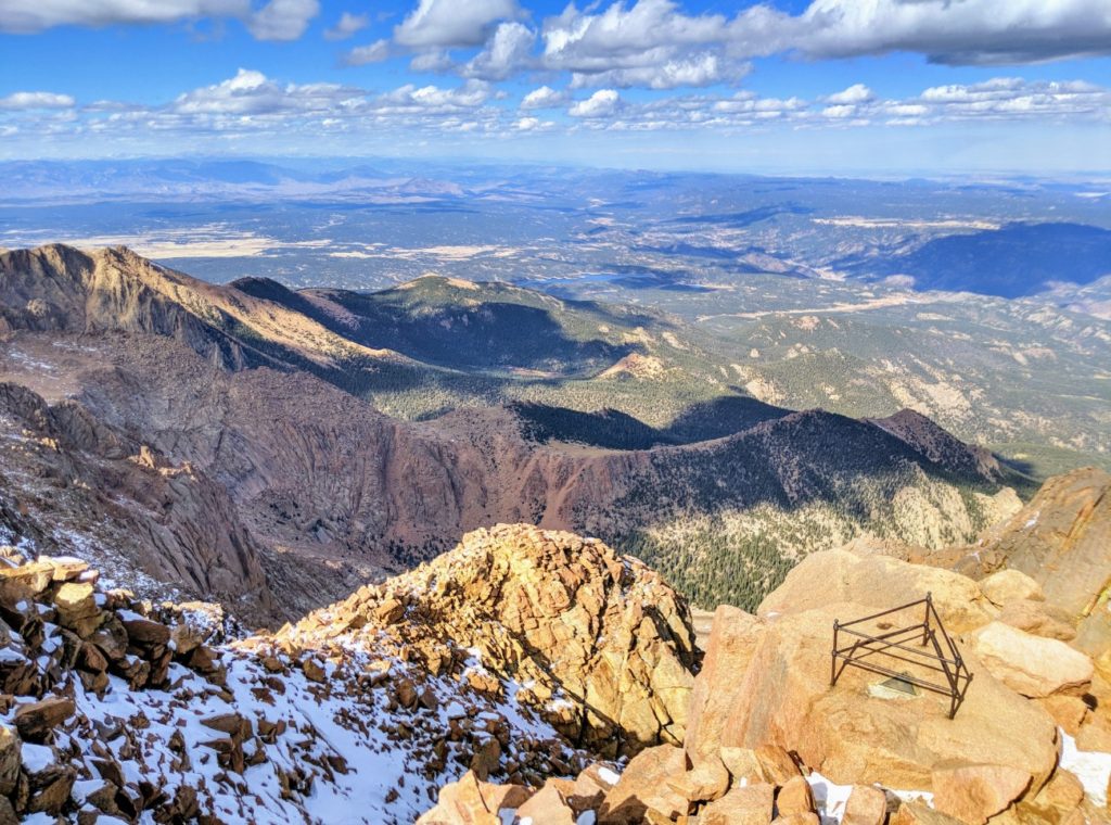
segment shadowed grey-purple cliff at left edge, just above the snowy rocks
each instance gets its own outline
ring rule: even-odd
[[[50,406],[19,385],[0,384],[0,429],[9,474],[0,497],[19,514],[8,541],[78,551],[152,593],[206,594],[244,619],[273,620],[258,547],[204,473],[79,402]]]

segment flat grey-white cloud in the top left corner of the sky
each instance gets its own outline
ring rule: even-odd
[[[174,23],[201,18],[242,20],[259,40],[296,40],[320,11],[318,0],[4,0],[0,31],[29,33],[54,26]]]

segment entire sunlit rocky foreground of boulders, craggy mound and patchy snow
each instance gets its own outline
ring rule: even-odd
[[[720,606],[699,649],[659,574],[530,525],[253,635],[7,548],[0,822],[1111,821],[1087,619],[1005,554],[970,577],[913,553],[811,554],[755,612]],[[953,718],[881,674],[831,687],[834,620],[927,594],[971,673]]]

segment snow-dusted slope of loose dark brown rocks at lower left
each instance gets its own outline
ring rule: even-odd
[[[519,683],[473,687],[471,650],[432,673],[379,632],[230,639],[216,606],[89,573],[0,568],[0,822],[411,823],[468,771],[539,786],[589,762]]]

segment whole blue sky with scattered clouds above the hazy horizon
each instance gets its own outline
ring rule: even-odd
[[[1105,175],[1111,0],[2,0],[0,159]]]

